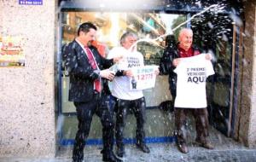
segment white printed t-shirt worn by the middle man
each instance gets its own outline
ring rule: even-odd
[[[138,51],[130,52],[124,47],[115,47],[109,51],[108,59],[117,55],[123,55],[124,61],[120,61],[118,65],[113,65],[113,70],[117,70],[119,67],[130,69],[144,66],[143,55]],[[113,96],[122,100],[137,100],[143,97],[143,90],[130,90],[130,78],[127,76],[113,78],[113,81],[109,84],[109,89]]]

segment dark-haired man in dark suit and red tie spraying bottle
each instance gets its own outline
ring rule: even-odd
[[[103,58],[90,43],[96,36],[96,26],[85,22],[79,26],[78,37],[63,50],[63,60],[70,76],[69,101],[73,101],[79,119],[79,130],[73,147],[73,162],[84,159],[85,140],[89,135],[90,123],[96,113],[102,122],[102,160],[122,161],[113,154],[113,113],[109,110],[107,80],[114,73],[109,71],[114,62]],[[102,70],[105,69],[105,70]]]

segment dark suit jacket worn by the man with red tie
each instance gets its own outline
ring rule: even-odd
[[[93,53],[97,66],[102,70],[113,65],[113,59],[103,58],[94,46],[89,47]],[[70,77],[69,101],[91,101],[95,94],[94,81],[100,78],[98,72],[89,63],[84,49],[76,40],[68,43],[63,49],[62,59],[67,67]],[[102,78],[102,82],[106,79]],[[104,86],[103,93],[108,91],[108,85]]]

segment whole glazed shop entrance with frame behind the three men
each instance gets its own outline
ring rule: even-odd
[[[76,3],[63,3],[60,13],[60,47],[71,42],[76,36],[76,30],[80,23],[91,21],[98,27],[97,42],[105,48],[103,55],[108,55],[108,50],[119,45],[119,38],[125,31],[136,32],[139,38],[157,38],[160,35],[171,32],[171,29],[188,20],[196,12],[181,12],[182,9],[164,8],[150,9],[99,9],[96,4],[88,3],[81,9]],[[143,8],[143,6],[142,6]],[[194,33],[194,43],[206,52],[214,55],[214,70],[216,74],[207,80],[207,101],[210,123],[224,133],[232,136],[232,124],[234,124],[234,103],[236,100],[236,30],[235,25],[227,14],[202,14],[190,20],[184,26],[190,26]],[[174,32],[177,38],[177,32]],[[236,40],[236,41],[235,41]],[[235,41],[235,43],[234,43]],[[235,44],[235,45],[234,45]],[[108,47],[108,48],[106,48]],[[166,48],[165,38],[154,43],[142,42],[137,44],[137,49],[143,54],[146,65],[159,65],[160,57]],[[60,48],[61,51],[61,48]],[[73,141],[76,132],[77,121],[73,102],[67,101],[69,89],[69,77],[66,69],[61,65],[61,52],[59,52],[59,113],[65,117],[61,129],[63,144]],[[159,112],[163,102],[172,101],[172,95],[168,90],[167,76],[156,79],[154,89],[144,90],[148,108],[148,120],[150,122],[145,128],[147,135],[154,137],[155,142],[168,142],[172,137],[173,118]],[[166,118],[166,119],[165,119]],[[128,119],[129,120],[129,119]],[[132,119],[131,119],[132,120]],[[151,125],[150,125],[151,124]],[[131,121],[131,125],[134,124]],[[96,139],[101,138],[101,125],[95,121],[91,127],[96,128],[90,134],[89,143],[98,143]],[[128,127],[128,126],[126,126]],[[167,129],[166,129],[166,128]],[[152,131],[152,129],[156,131]],[[132,130],[127,130],[129,133]],[[133,136],[132,133],[127,137]],[[148,139],[148,142],[152,138]],[[172,139],[171,139],[172,140]]]

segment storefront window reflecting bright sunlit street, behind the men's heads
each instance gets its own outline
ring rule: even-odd
[[[105,43],[108,49],[119,46],[119,38],[124,32],[135,32],[139,38],[152,40],[170,33],[178,21],[185,20],[183,14],[160,13],[63,12],[63,15],[65,16],[62,26],[62,45],[73,41],[80,23],[90,21],[98,27],[97,41]],[[145,41],[137,44],[137,50],[144,56],[145,65],[158,66],[165,48],[165,37],[154,42]],[[68,101],[68,76],[64,75],[62,81],[62,113],[74,113],[73,102]],[[154,89],[144,90],[143,93],[147,107],[158,107],[161,102],[172,100],[167,76],[157,77]]]

